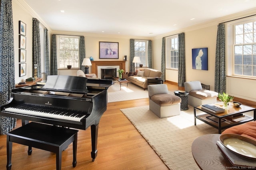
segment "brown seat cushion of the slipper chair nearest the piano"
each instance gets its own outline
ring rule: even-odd
[[[181,98],[173,94],[156,94],[150,99],[160,106],[168,106],[181,102]]]

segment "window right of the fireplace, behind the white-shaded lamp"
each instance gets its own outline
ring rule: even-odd
[[[148,41],[134,41],[134,57],[140,57],[140,64],[148,67]]]

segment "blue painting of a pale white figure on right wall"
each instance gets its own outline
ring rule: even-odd
[[[192,68],[208,70],[208,48],[192,49]]]

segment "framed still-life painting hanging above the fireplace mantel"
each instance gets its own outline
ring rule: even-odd
[[[118,59],[118,43],[99,42],[100,59]]]

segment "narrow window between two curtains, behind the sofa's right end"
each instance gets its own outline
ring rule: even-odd
[[[178,69],[178,35],[166,38],[166,68]]]

